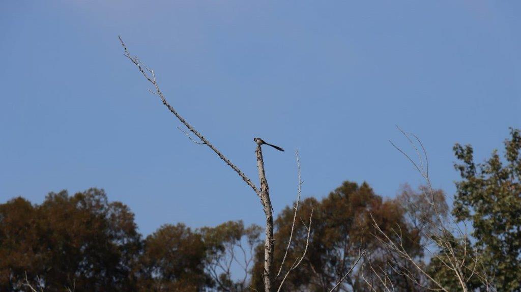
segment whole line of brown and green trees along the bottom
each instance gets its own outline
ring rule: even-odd
[[[404,185],[385,199],[367,183],[346,181],[300,202],[288,250],[294,206],[284,208],[275,221],[275,265],[287,258],[274,286],[305,250],[286,291],[328,291],[358,258],[344,291],[423,291],[438,289],[435,282],[448,291],[462,291],[462,283],[468,291],[521,291],[520,149],[514,129],[504,159],[494,151],[476,164],[473,148],[456,144],[461,180],[452,208],[429,185]],[[438,227],[451,222],[465,233]],[[439,230],[443,237],[434,237]],[[261,291],[263,233],[242,221],[196,230],[178,223],[143,238],[129,208],[102,189],[50,193],[42,204],[14,198],[0,205],[0,291]],[[429,248],[462,234],[468,238]],[[454,273],[446,255],[462,259],[462,271]]]

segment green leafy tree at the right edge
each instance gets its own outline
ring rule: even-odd
[[[453,214],[472,223],[475,246],[482,249],[496,288],[521,291],[521,132],[510,134],[504,162],[494,150],[475,164],[472,146],[454,146],[462,180],[456,183]]]

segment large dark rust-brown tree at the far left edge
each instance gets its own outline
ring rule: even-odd
[[[45,291],[131,291],[140,244],[134,215],[101,189],[16,198],[0,205],[0,290],[20,290],[27,273]]]

